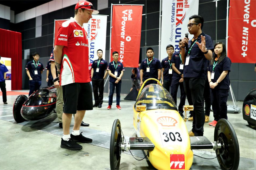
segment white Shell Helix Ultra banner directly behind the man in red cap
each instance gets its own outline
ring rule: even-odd
[[[93,15],[88,23],[84,23],[89,43],[90,63],[98,59],[97,50],[103,51],[103,59],[105,60],[106,51],[106,22],[107,16]]]

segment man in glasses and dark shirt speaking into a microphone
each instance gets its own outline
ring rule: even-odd
[[[189,17],[188,32],[193,39],[182,39],[181,58],[184,64],[184,89],[189,103],[193,103],[193,128],[189,136],[203,136],[204,109],[202,104],[204,84],[207,78],[207,60],[212,59],[213,41],[209,35],[202,32],[203,17]],[[185,45],[188,49],[185,50]]]

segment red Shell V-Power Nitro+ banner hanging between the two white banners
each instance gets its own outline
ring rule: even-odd
[[[141,5],[113,5],[111,61],[112,52],[119,53],[118,61],[124,67],[138,67],[141,38]]]

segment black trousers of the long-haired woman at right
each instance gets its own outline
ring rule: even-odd
[[[219,119],[228,119],[227,116],[227,100],[228,100],[228,89],[212,89],[211,88],[211,101],[213,117],[215,121]]]

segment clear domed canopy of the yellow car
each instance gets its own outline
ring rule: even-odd
[[[146,109],[174,109],[177,110],[175,102],[170,93],[158,84],[145,86],[134,105],[146,105]]]

